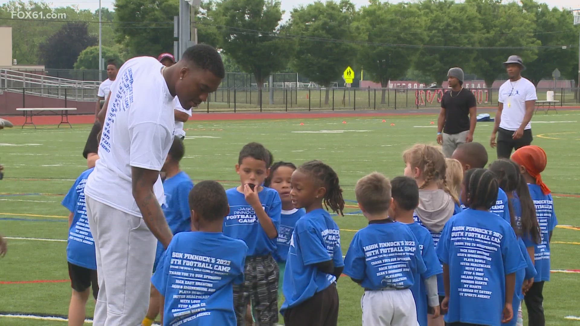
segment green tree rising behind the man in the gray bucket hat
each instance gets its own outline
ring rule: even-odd
[[[495,79],[505,76],[502,62],[510,55],[519,55],[524,63],[536,59],[538,50],[533,47],[541,45],[541,42],[534,37],[534,14],[525,12],[516,2],[503,4],[499,0],[466,0],[465,3],[479,15],[484,35],[478,37],[478,45],[490,48],[525,47],[477,52],[474,72],[484,79],[488,87]]]

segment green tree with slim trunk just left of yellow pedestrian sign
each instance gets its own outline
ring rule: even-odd
[[[317,1],[292,10],[288,32],[297,37],[291,67],[311,81],[327,86],[325,104],[328,87],[340,80],[346,67],[355,63],[357,47],[349,42],[354,41],[355,16],[356,9],[348,0]]]

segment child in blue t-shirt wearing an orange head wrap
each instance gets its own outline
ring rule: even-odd
[[[528,184],[541,231],[542,240],[534,248],[534,266],[537,274],[534,277],[534,284],[525,294],[524,302],[528,309],[528,320],[532,321],[530,325],[543,326],[545,325],[543,285],[550,280],[550,241],[552,231],[558,224],[552,193],[543,183],[541,176],[546,169],[548,157],[541,147],[531,145],[516,150],[512,154],[512,161],[520,165],[521,174]]]

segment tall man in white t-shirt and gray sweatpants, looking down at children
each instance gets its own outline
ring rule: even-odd
[[[173,100],[191,110],[224,75],[219,53],[208,45],[191,46],[171,67],[142,56],[119,69],[98,115],[99,160],[85,184],[99,272],[94,325],[143,321],[157,240],[166,248],[172,238],[160,205],[160,170],[173,143]]]

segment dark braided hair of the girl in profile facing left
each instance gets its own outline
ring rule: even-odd
[[[309,173],[314,179],[322,183],[322,186],[326,189],[323,202],[327,209],[330,208],[333,212],[345,216],[342,212],[345,209],[345,200],[342,198],[338,175],[330,166],[322,161],[314,160],[300,165],[298,170],[303,173]]]

